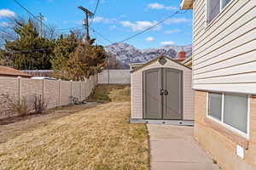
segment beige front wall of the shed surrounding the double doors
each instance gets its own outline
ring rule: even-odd
[[[167,59],[165,65],[160,65],[156,60],[131,73],[131,119],[143,119],[143,71],[163,67],[183,71],[183,120],[194,120],[194,91],[191,88],[192,71],[170,59]]]

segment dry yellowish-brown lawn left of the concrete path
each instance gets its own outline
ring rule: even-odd
[[[0,169],[149,169],[147,129],[129,116],[112,102],[35,127],[0,144]]]

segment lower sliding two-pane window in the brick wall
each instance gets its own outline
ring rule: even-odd
[[[208,94],[207,115],[247,135],[248,96],[243,94]]]

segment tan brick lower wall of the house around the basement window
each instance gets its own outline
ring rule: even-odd
[[[250,99],[250,138],[245,139],[207,117],[207,92],[195,91],[195,140],[223,170],[256,169],[256,97]],[[236,156],[236,144],[245,149]]]

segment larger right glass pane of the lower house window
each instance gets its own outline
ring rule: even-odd
[[[224,122],[247,133],[247,96],[224,96]]]

